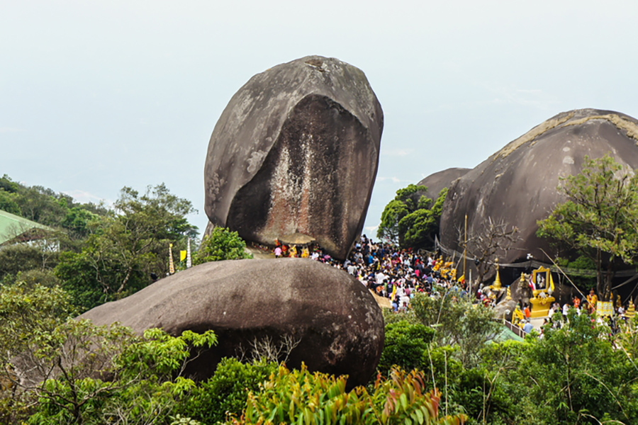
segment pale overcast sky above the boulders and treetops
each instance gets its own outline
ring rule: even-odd
[[[0,0],[0,174],[83,202],[166,183],[206,226],[213,127],[252,75],[362,69],[384,109],[369,234],[398,188],[561,111],[638,118],[638,1]]]

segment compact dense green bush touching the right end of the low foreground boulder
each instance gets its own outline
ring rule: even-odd
[[[424,368],[424,354],[434,337],[433,329],[402,320],[386,324],[385,331],[384,351],[377,365],[380,373],[386,375],[393,365],[407,370]]]

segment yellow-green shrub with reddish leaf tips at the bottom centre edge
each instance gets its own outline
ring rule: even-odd
[[[372,393],[364,387],[345,391],[346,378],[284,366],[250,394],[242,418],[234,424],[461,424],[464,416],[439,417],[439,395],[425,392],[422,375],[395,368],[379,376]]]

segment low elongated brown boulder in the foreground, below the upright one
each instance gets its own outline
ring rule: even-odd
[[[153,283],[123,300],[82,314],[96,324],[121,322],[142,333],[159,327],[172,335],[213,329],[218,345],[189,365],[207,378],[225,356],[255,338],[299,341],[287,364],[349,375],[362,385],[384,347],[379,306],[358,280],[309,259],[216,261]]]

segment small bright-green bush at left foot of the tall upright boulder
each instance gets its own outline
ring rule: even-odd
[[[215,227],[210,235],[203,238],[199,251],[195,255],[194,264],[208,261],[250,259],[244,249],[246,242],[237,234],[225,227]]]

